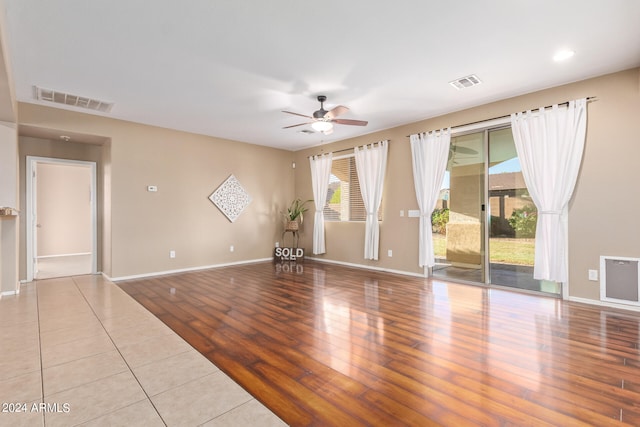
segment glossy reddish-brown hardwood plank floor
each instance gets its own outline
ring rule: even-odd
[[[290,425],[640,425],[634,312],[309,261],[119,286]]]

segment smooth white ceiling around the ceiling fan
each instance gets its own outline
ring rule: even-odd
[[[638,0],[4,6],[19,101],[43,103],[37,85],[114,103],[97,114],[289,150],[640,65]],[[575,56],[554,62],[565,48]],[[468,74],[483,83],[448,84]],[[305,121],[282,110],[310,115],[320,94],[326,109],[345,105],[341,118],[369,125],[282,129]]]

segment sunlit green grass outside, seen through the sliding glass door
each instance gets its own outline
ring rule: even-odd
[[[433,234],[436,258],[446,258],[446,236]],[[490,262],[515,265],[533,265],[535,239],[489,239]]]

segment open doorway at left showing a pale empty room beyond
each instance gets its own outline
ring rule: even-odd
[[[96,163],[27,157],[27,280],[97,271]]]

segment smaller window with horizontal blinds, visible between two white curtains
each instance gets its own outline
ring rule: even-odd
[[[325,221],[365,221],[367,212],[360,193],[354,156],[334,159],[329,177],[327,203],[324,206]],[[382,220],[381,209],[378,221]]]

